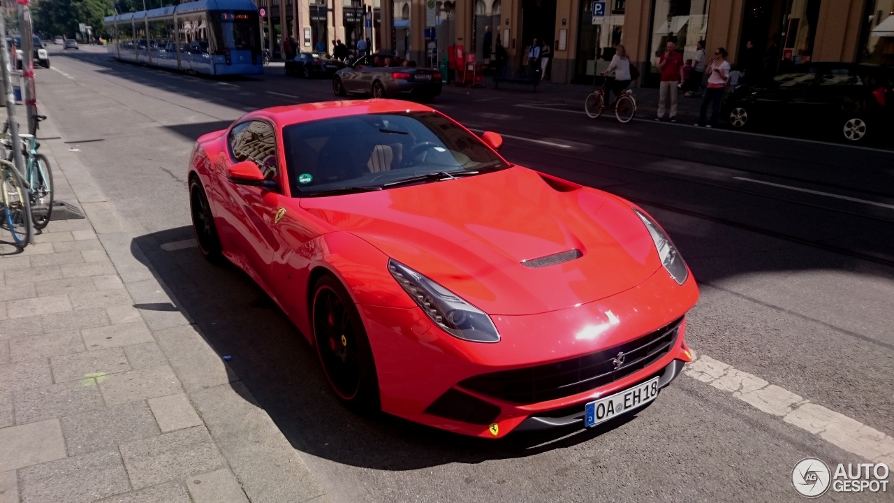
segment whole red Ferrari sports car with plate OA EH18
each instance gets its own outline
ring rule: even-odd
[[[192,154],[199,249],[279,304],[347,405],[498,438],[652,402],[690,360],[686,263],[637,205],[501,144],[404,101],[252,112]]]

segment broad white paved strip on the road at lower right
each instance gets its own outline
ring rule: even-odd
[[[894,438],[822,405],[810,403],[785,388],[755,375],[738,371],[704,354],[689,363],[683,373],[742,400],[755,409],[782,418],[832,445],[873,463],[894,469]]]

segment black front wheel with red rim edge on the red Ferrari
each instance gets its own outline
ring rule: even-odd
[[[379,408],[378,379],[363,321],[335,277],[316,281],[311,307],[316,354],[335,395],[358,411]]]

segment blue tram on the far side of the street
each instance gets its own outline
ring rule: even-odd
[[[105,18],[109,54],[123,61],[207,75],[264,72],[257,5],[198,0]]]

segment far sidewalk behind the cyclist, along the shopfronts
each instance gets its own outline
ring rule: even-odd
[[[454,85],[443,87],[443,94],[469,95],[480,98],[504,98],[510,100],[536,101],[540,103],[564,104],[569,107],[584,109],[586,96],[593,92],[593,85],[583,84],[555,84],[551,81],[542,81],[534,91],[532,86],[522,84],[501,83],[500,89],[493,89],[493,79],[485,77],[485,88],[467,88]],[[597,86],[598,87],[598,86]],[[633,95],[637,98],[637,117],[653,119],[658,112],[658,90],[652,88],[632,88]],[[695,124],[698,120],[699,109],[702,106],[701,94],[693,98],[684,98],[679,93],[677,99],[677,118],[684,124]],[[710,109],[708,111],[710,114]]]

